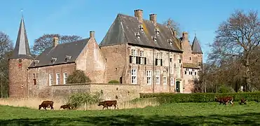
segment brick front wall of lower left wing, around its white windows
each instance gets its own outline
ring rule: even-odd
[[[60,84],[64,83],[64,74],[67,73],[68,76],[73,73],[76,69],[76,64],[60,64],[55,66],[44,66],[39,68],[29,69],[28,76],[28,87],[29,87],[29,97],[51,97],[50,94],[50,82],[49,73],[53,73],[53,85],[56,85],[56,73],[60,73]],[[36,78],[36,85],[34,85],[34,75]]]

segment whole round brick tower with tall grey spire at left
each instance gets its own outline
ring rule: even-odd
[[[22,16],[15,49],[9,58],[9,97],[28,97],[28,66],[32,57]]]

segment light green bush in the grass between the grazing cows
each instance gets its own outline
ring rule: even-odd
[[[88,92],[78,92],[71,94],[67,99],[67,104],[71,104],[72,108],[77,109],[82,104],[95,104],[100,102],[100,92],[95,92],[95,94],[90,94]]]

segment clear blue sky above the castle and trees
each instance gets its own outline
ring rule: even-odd
[[[259,10],[259,4],[260,1],[254,0],[10,0],[1,1],[4,6],[0,12],[0,31],[15,42],[22,9],[30,45],[43,34],[74,34],[87,38],[91,30],[100,43],[118,13],[134,15],[135,9],[142,9],[147,20],[150,13],[156,13],[158,22],[167,18],[179,22],[182,31],[189,32],[190,41],[196,30],[203,56],[207,57],[207,43],[213,42],[219,24],[235,9]]]

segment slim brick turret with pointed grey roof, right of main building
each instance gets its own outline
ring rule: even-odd
[[[193,55],[193,64],[200,67],[202,69],[203,66],[203,51],[201,50],[200,43],[198,42],[198,38],[195,37],[193,39],[193,43],[191,45],[192,55]]]

